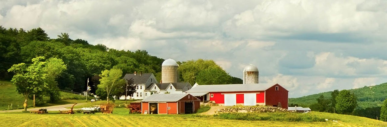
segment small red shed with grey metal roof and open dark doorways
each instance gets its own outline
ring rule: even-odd
[[[200,108],[200,99],[188,93],[152,94],[141,101],[142,114],[187,114]]]

